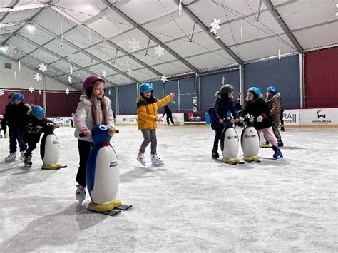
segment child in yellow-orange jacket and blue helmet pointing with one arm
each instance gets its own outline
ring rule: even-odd
[[[163,160],[160,160],[156,153],[156,128],[158,128],[158,122],[163,121],[162,118],[158,117],[158,108],[169,103],[175,97],[175,94],[170,93],[163,99],[157,99],[153,97],[153,86],[150,83],[142,83],[140,85],[140,95],[142,98],[138,98],[136,104],[138,129],[141,130],[144,140],[140,145],[137,160],[145,166],[144,152],[151,142],[151,165],[164,165]]]

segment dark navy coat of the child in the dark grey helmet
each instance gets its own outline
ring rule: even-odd
[[[212,108],[211,128],[213,130],[222,130],[224,128],[223,123],[220,123],[220,119],[227,117],[227,113],[230,111],[234,118],[238,118],[238,113],[235,108],[232,99],[227,95],[222,98],[220,92],[215,93],[216,100],[214,107]]]

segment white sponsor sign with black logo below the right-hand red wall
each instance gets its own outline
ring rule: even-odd
[[[338,125],[338,108],[302,109],[300,125]]]

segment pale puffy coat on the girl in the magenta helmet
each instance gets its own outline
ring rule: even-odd
[[[114,119],[113,119],[113,111],[111,110],[111,100],[107,97],[103,97],[104,102],[107,105],[107,124],[114,126]],[[98,118],[100,122],[103,123],[103,115],[101,110],[101,105],[98,103]],[[91,112],[91,100],[87,98],[86,95],[81,95],[80,103],[78,103],[78,108],[76,109],[76,113],[74,114],[74,125],[75,125],[75,132],[74,135],[76,138],[80,140],[86,140],[88,142],[92,142],[91,137],[85,136],[80,137],[79,134],[81,130],[88,129],[91,130],[94,126],[94,119],[93,113]]]

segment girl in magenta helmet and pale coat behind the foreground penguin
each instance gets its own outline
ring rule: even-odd
[[[76,175],[76,200],[82,204],[86,198],[86,166],[88,155],[93,147],[91,129],[94,125],[114,126],[111,100],[104,96],[105,81],[100,76],[89,76],[83,81],[83,93],[74,115],[75,137],[78,138],[80,166]],[[80,133],[86,135],[80,137]]]

